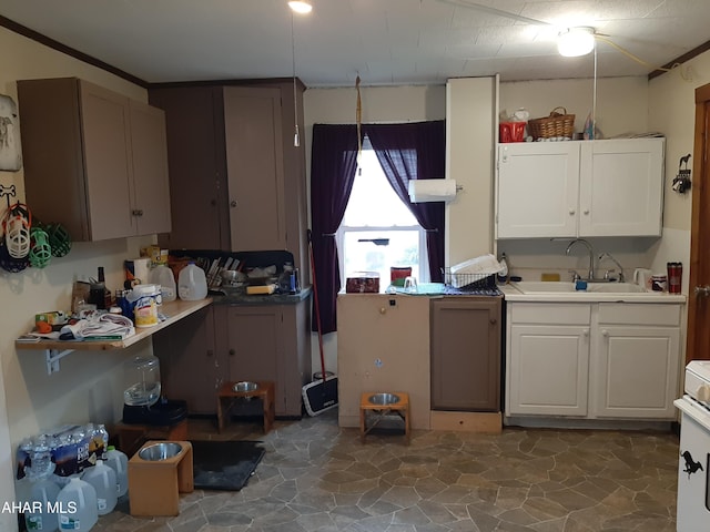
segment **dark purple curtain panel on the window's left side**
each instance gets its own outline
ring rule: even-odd
[[[341,225],[357,170],[355,125],[313,125],[311,152],[311,227],[321,332],[336,330],[341,273],[335,232]],[[315,313],[315,305],[314,305]],[[313,330],[316,330],[313,316]]]

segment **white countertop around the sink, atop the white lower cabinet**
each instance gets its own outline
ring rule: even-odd
[[[529,303],[686,303],[683,294],[666,291],[604,293],[604,291],[537,291],[524,294],[515,283],[499,287],[507,301]]]

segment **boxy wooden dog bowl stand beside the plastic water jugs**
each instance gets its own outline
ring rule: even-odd
[[[154,443],[178,443],[182,450],[165,460],[143,460],[139,453]],[[180,493],[193,490],[192,443],[189,441],[151,440],[129,460],[131,515],[178,515]]]

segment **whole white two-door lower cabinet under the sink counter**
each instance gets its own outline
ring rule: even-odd
[[[508,303],[506,416],[674,419],[680,305]]]

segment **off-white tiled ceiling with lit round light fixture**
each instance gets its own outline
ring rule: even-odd
[[[286,0],[2,0],[0,16],[146,83],[290,78],[294,58],[306,86],[592,76],[594,54],[557,53],[568,25],[648,63],[598,40],[599,76],[645,75],[710,40],[708,0],[311,3],[292,19]]]

